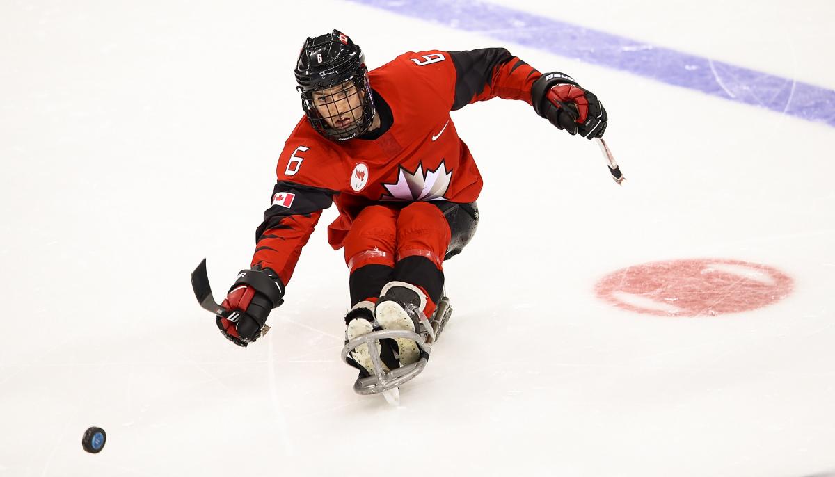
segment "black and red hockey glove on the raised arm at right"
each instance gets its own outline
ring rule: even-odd
[[[586,139],[603,137],[609,119],[606,110],[574,78],[558,72],[544,74],[534,82],[530,96],[534,111],[557,128]]]

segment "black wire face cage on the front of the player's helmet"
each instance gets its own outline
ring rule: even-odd
[[[301,107],[318,133],[337,141],[356,138],[371,128],[376,114],[367,70],[344,81],[301,92]]]

